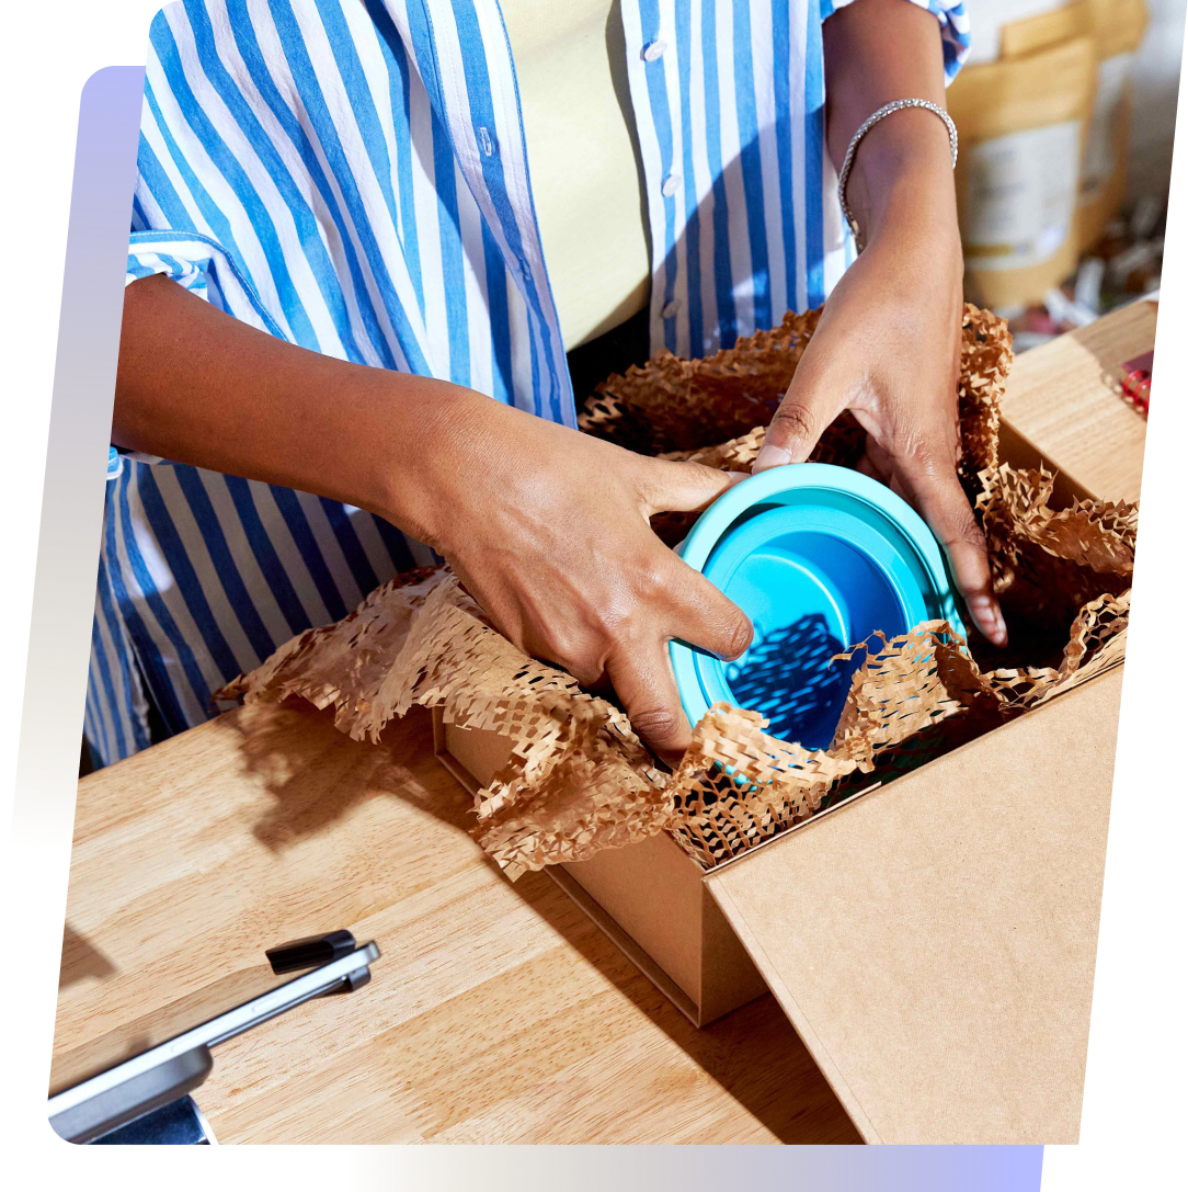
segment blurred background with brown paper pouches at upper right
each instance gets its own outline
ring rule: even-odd
[[[1188,0],[965,0],[966,297],[1015,350],[1158,290]]]

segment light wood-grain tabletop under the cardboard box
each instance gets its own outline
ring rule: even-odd
[[[1142,486],[1114,373],[1156,317],[1012,373],[1015,426],[1103,495]],[[216,1049],[220,1142],[858,1141],[771,997],[695,1030],[543,874],[509,883],[469,806],[419,709],[379,746],[241,709],[83,778],[50,1091],[278,983],[266,948],[349,927],[382,952],[369,985]]]

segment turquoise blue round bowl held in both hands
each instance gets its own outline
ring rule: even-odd
[[[807,749],[833,740],[864,651],[944,617],[964,637],[953,585],[920,515],[885,485],[848,467],[791,464],[724,492],[677,553],[754,626],[747,652],[722,662],[670,642],[680,702],[696,725],[726,702],[759,712],[770,732]]]

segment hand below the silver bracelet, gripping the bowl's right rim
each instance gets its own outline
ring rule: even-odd
[[[803,462],[851,410],[866,430],[859,468],[928,522],[974,621],[1001,646],[985,540],[957,478],[960,242],[956,221],[939,229],[918,210],[881,223],[829,296],[754,471]]]

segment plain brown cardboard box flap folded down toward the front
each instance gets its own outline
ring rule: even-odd
[[[1124,670],[707,877],[867,1142],[1080,1141]]]

